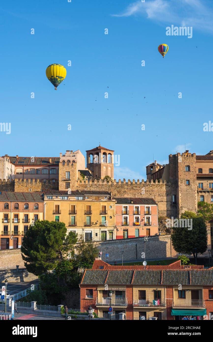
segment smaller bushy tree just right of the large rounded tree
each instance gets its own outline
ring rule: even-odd
[[[80,235],[76,245],[76,265],[83,268],[91,268],[96,257],[98,257],[99,250],[94,242],[84,241],[83,235]]]

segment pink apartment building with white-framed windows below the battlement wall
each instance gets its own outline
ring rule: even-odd
[[[116,239],[158,234],[158,206],[153,198],[113,197]]]

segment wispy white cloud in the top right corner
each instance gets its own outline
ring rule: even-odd
[[[138,0],[129,4],[121,14],[113,14],[116,17],[131,15],[144,15],[147,19],[167,25],[192,26],[213,32],[213,12],[205,0]]]

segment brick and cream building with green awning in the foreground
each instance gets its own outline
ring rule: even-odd
[[[81,310],[91,306],[103,317],[111,305],[113,315],[133,320],[211,319],[213,267],[182,266],[180,260],[166,266],[114,266],[96,258],[83,273],[80,298]]]

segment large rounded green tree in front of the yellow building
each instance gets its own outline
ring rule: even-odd
[[[74,255],[77,237],[62,222],[36,221],[30,226],[23,238],[21,247],[22,258],[27,271],[42,275],[54,269],[70,252]]]

